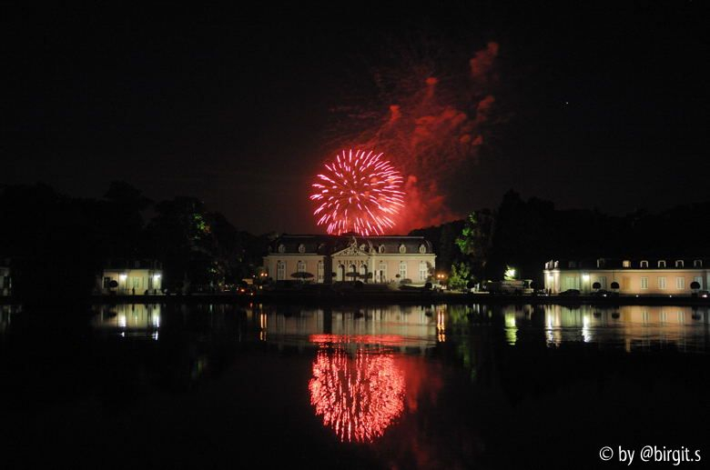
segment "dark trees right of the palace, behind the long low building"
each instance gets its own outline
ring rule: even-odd
[[[623,216],[559,210],[552,202],[525,201],[509,191],[494,210],[411,235],[425,235],[436,245],[437,267],[450,272],[454,283],[502,279],[506,266],[513,266],[519,277],[542,285],[543,265],[550,259],[707,256],[708,214],[710,202]]]

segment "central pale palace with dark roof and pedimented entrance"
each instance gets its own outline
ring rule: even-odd
[[[424,285],[435,260],[422,236],[282,235],[269,245],[264,268],[274,281]]]

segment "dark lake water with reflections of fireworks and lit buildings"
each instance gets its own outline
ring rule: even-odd
[[[3,468],[710,462],[706,308],[0,309]]]

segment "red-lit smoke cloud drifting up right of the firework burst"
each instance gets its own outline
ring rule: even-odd
[[[343,121],[348,129],[362,130],[336,131],[336,145],[376,148],[403,175],[404,208],[390,217],[393,224],[381,225],[383,230],[407,233],[462,217],[451,210],[447,189],[478,162],[496,124],[492,89],[498,54],[493,42],[467,60],[413,54],[375,73],[376,103],[349,108]]]

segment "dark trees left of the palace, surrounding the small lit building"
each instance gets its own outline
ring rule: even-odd
[[[0,265],[9,259],[20,298],[85,297],[106,263],[122,260],[159,261],[170,290],[235,283],[256,272],[268,243],[195,197],[154,203],[123,182],[100,199],[0,186]]]

